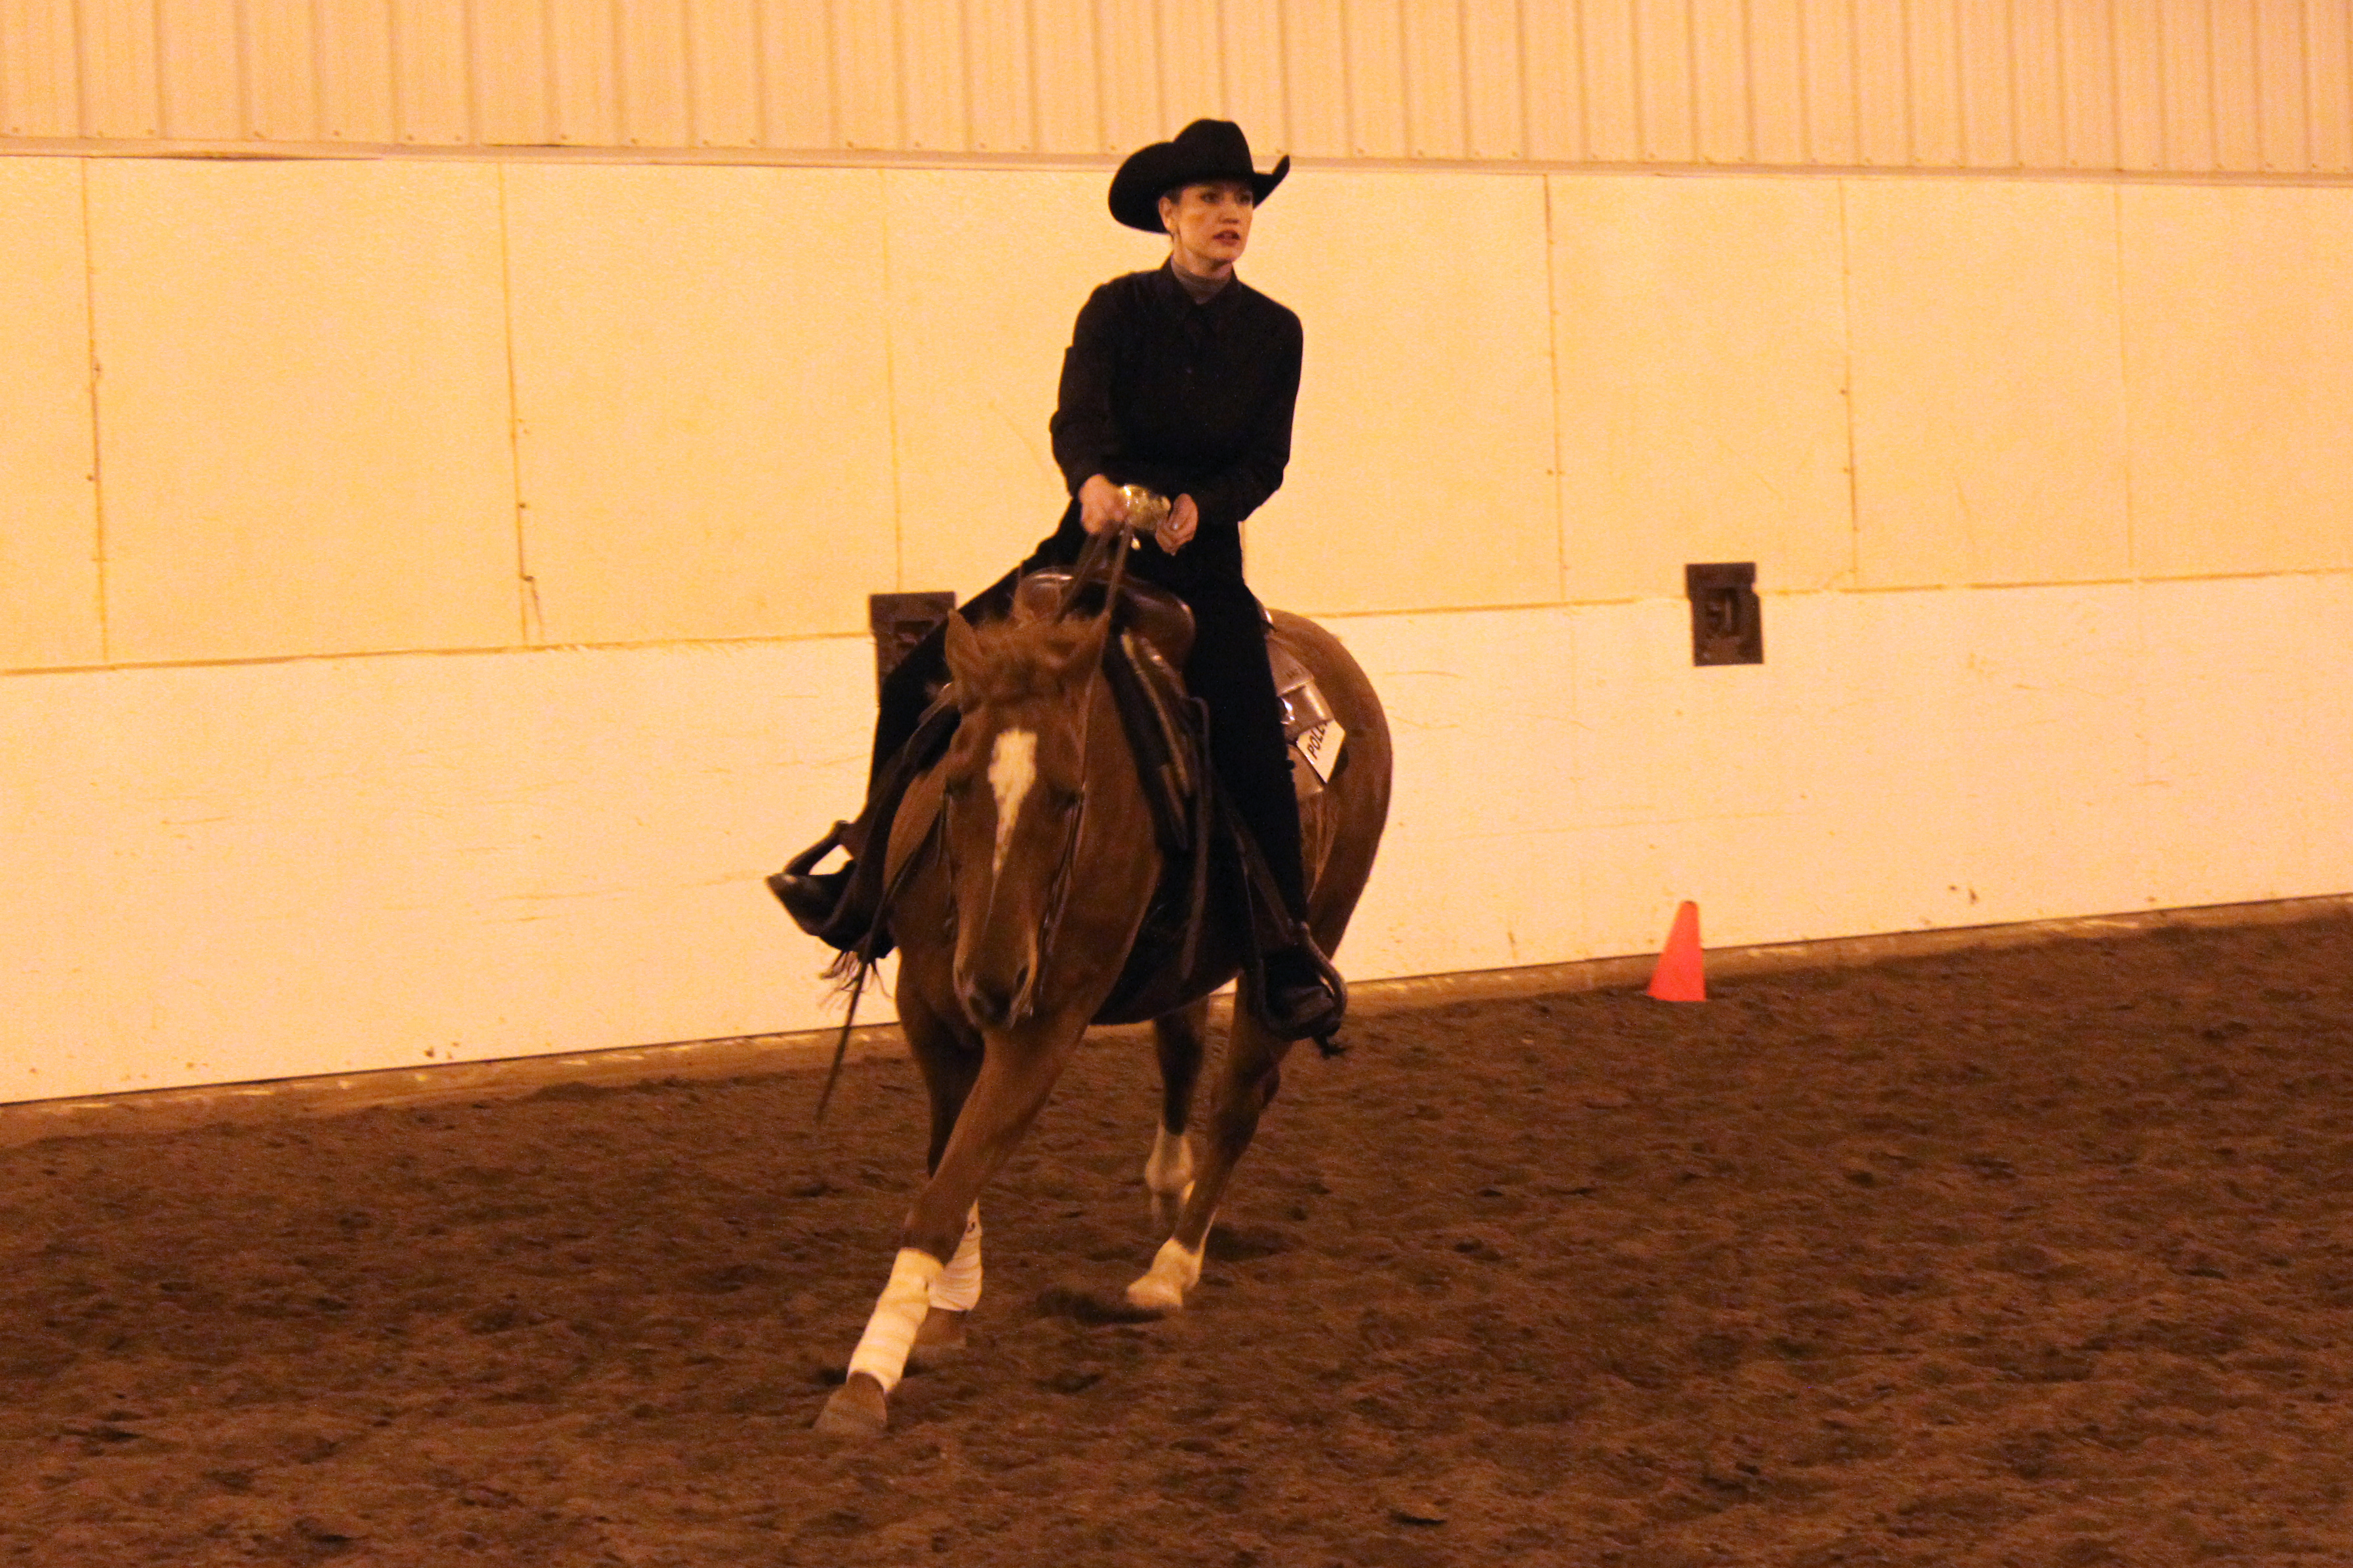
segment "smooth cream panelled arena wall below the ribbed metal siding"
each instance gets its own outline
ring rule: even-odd
[[[1052,520],[1101,181],[0,158],[0,1099],[826,1022],[760,876]],[[2353,188],[1306,165],[1245,273],[1353,977],[2353,890]]]

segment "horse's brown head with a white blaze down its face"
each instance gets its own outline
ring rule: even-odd
[[[955,881],[955,996],[1005,1029],[1038,1003],[1045,942],[1071,892],[1087,777],[1087,716],[1108,619],[948,617],[962,725],[941,763]]]

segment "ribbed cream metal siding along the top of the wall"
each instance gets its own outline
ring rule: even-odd
[[[2353,172],[2353,0],[0,0],[0,141]]]

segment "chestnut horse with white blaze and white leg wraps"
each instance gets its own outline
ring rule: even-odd
[[[816,1417],[821,1431],[882,1431],[908,1363],[962,1347],[981,1290],[981,1187],[1045,1107],[1087,1024],[1136,1017],[1106,1012],[1106,1001],[1139,946],[1165,864],[1104,673],[1108,636],[1108,614],[1016,617],[979,631],[948,617],[962,718],[899,808],[887,862],[899,1022],[932,1099],[932,1177],[899,1231],[849,1375]],[[1315,676],[1346,730],[1327,786],[1301,803],[1308,925],[1329,954],[1388,817],[1388,723],[1337,638],[1282,612],[1273,636]],[[1151,1269],[1127,1285],[1127,1302],[1146,1314],[1176,1311],[1200,1281],[1217,1205],[1289,1050],[1249,1008],[1235,1008],[1195,1172],[1186,1123],[1207,996],[1235,977],[1247,942],[1235,925],[1212,911],[1191,975],[1172,975],[1181,961],[1169,951],[1160,984],[1144,986],[1158,1008],[1162,1078],[1146,1187],[1158,1222],[1174,1210]],[[1146,946],[1155,942],[1165,937],[1146,935]]]

